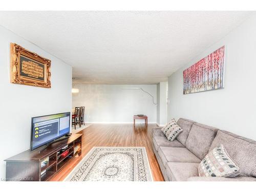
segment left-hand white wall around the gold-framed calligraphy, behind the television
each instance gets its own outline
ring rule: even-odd
[[[10,83],[10,43],[52,61],[51,89]],[[0,26],[0,180],[5,178],[4,159],[30,147],[31,117],[69,112],[72,108],[72,68],[29,41]]]

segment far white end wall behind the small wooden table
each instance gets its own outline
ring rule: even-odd
[[[86,122],[132,123],[133,115],[144,114],[148,123],[156,123],[157,107],[152,97],[141,90],[122,90],[122,87],[141,87],[157,99],[156,85],[76,84],[73,108],[86,107]],[[141,123],[143,120],[136,120]]]

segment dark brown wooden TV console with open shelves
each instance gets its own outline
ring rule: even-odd
[[[62,167],[69,163],[75,156],[82,154],[82,135],[72,134],[65,140],[50,144],[40,152],[40,148],[34,151],[27,150],[23,153],[6,159],[7,181],[48,181]],[[74,148],[80,144],[80,150],[74,153]],[[67,146],[69,150],[66,157],[61,157],[58,152]],[[40,153],[39,153],[40,152]],[[49,157],[48,163],[41,167],[41,162]],[[46,172],[41,175],[42,172]]]

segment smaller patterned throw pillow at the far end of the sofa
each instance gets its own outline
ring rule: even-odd
[[[161,131],[169,141],[173,141],[183,130],[176,124],[175,119],[172,119]]]

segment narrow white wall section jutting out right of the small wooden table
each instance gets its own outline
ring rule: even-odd
[[[157,124],[164,126],[166,124],[166,99],[167,82],[157,84]]]

